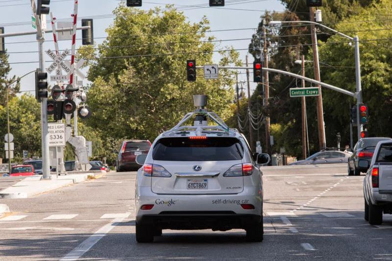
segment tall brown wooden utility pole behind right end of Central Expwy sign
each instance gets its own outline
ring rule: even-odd
[[[314,8],[309,8],[310,12],[310,21],[314,22],[315,13]],[[317,45],[317,32],[316,26],[314,24],[310,25],[311,35],[312,35],[312,46],[313,46],[313,65],[314,65],[314,73],[315,79],[320,81],[320,67],[319,67],[319,47]],[[325,126],[324,126],[324,112],[322,109],[322,95],[321,95],[321,86],[317,86],[319,88],[319,96],[316,97],[317,102],[317,122],[319,127],[319,148],[320,150],[326,149],[326,141],[325,141]]]

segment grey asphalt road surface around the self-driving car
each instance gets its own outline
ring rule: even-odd
[[[245,231],[165,230],[135,241],[135,172],[28,199],[0,199],[0,260],[373,260],[392,259],[392,215],[363,218],[363,176],[345,165],[266,167],[265,237]]]

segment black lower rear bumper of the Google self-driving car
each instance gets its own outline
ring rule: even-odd
[[[138,224],[160,229],[246,229],[262,221],[261,215],[235,214],[230,211],[166,211],[136,217]]]

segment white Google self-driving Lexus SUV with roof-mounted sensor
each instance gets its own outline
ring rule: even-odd
[[[268,154],[252,154],[245,137],[218,115],[198,109],[159,135],[136,180],[136,240],[151,242],[162,229],[244,229],[263,240],[263,182],[259,167]],[[201,101],[200,101],[201,100]],[[194,125],[184,125],[194,119]]]

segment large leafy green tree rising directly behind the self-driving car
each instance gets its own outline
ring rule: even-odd
[[[88,125],[105,139],[152,141],[194,110],[195,94],[208,95],[208,108],[229,117],[234,96],[230,71],[221,70],[219,80],[206,81],[197,70],[196,82],[186,80],[187,59],[196,59],[198,66],[210,64],[218,51],[210,42],[213,37],[206,36],[207,19],[191,24],[172,8],[134,13],[135,9],[120,4],[98,52],[88,47],[80,50],[80,56],[92,59],[88,103],[93,115]],[[221,65],[240,64],[231,48],[221,54]]]

